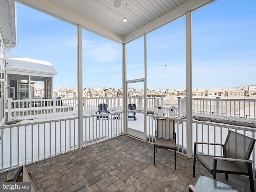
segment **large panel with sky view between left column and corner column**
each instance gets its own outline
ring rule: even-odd
[[[86,30],[82,37],[83,89],[90,97],[105,97],[113,88],[122,88],[122,45]]]

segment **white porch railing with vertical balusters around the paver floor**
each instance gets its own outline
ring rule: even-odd
[[[83,146],[101,142],[124,134],[123,112],[108,113],[108,118],[100,118],[99,114],[83,117]],[[116,118],[118,115],[118,118]],[[147,142],[154,143],[156,115],[146,115]],[[187,148],[193,148],[195,141],[224,143],[228,130],[240,132],[256,138],[256,129],[227,124],[192,121],[192,143],[187,144],[186,119],[175,120],[178,153],[186,155]],[[58,154],[78,148],[78,118],[65,118],[28,124],[12,124],[0,127],[2,136],[0,143],[0,172],[17,168],[22,164],[30,164]],[[198,148],[206,154],[221,155],[218,148]],[[250,158],[253,167],[256,165],[255,148]]]

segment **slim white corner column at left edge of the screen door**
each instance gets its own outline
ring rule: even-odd
[[[126,86],[126,44],[122,45],[123,54],[123,109],[124,109],[124,134],[127,134],[127,86]]]

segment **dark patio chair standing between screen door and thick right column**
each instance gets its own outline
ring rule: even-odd
[[[154,165],[156,164],[156,148],[174,150],[174,169],[176,169],[176,133],[174,120],[157,119],[156,140],[154,143]]]

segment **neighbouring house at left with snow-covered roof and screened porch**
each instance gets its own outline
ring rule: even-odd
[[[6,73],[12,98],[34,98],[34,84],[38,82],[44,87],[42,97],[52,98],[53,77],[57,73],[51,62],[6,55]]]

